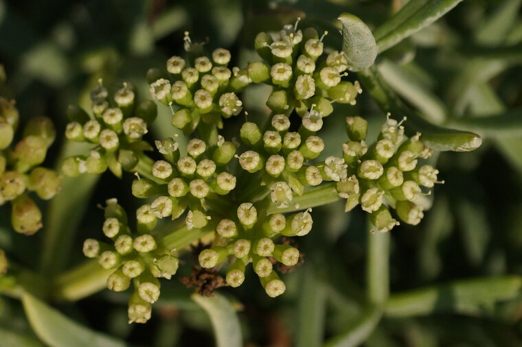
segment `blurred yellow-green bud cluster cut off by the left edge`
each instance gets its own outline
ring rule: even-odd
[[[61,177],[41,167],[56,132],[47,117],[32,118],[20,141],[12,145],[19,125],[14,100],[0,97],[0,206],[10,202],[14,230],[32,235],[42,227],[42,213],[29,192],[49,200],[60,191]]]

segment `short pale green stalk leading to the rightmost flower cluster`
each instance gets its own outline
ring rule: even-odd
[[[287,213],[304,210],[309,207],[330,204],[339,200],[339,195],[335,190],[335,183],[323,184],[319,187],[305,189],[303,195],[295,196],[293,204],[285,208],[278,208],[277,204],[271,203],[268,213]]]

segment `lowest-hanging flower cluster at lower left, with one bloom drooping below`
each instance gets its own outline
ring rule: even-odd
[[[161,246],[159,239],[150,235],[150,220],[155,214],[137,211],[137,232],[131,232],[127,215],[117,200],[107,200],[103,232],[113,241],[112,245],[95,239],[87,239],[83,253],[97,258],[106,270],[114,270],[107,278],[107,287],[113,291],[125,291],[134,284],[134,292],[128,304],[129,323],[144,323],[150,319],[151,305],[159,298],[158,278],[170,279],[178,270],[179,260],[174,250]],[[146,215],[149,214],[149,219]]]

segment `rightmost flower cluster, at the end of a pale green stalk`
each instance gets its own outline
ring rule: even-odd
[[[431,193],[423,193],[421,186],[432,188],[435,183],[443,183],[437,180],[437,169],[418,166],[419,158],[427,159],[432,153],[420,141],[421,134],[408,139],[402,121],[387,117],[378,141],[370,147],[365,143],[365,119],[346,118],[350,141],[343,143],[343,162],[348,171],[336,187],[339,196],[346,199],[345,211],[361,204],[363,211],[370,213],[372,231],[380,232],[399,224],[391,217],[387,204],[395,208],[402,222],[417,225],[424,217],[420,196]]]

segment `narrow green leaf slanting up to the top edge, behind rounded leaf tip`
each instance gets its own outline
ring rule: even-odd
[[[379,53],[427,27],[462,0],[411,0],[391,19],[378,27],[374,36]]]

